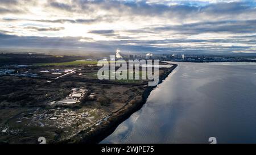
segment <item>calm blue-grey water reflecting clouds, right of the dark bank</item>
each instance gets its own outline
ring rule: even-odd
[[[178,63],[101,143],[256,143],[256,63]]]

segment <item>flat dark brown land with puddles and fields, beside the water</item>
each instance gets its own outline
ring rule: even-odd
[[[79,56],[5,58],[16,63],[0,66],[0,143],[98,143],[156,87],[147,79],[100,80],[97,61]],[[177,65],[160,66],[159,83]]]

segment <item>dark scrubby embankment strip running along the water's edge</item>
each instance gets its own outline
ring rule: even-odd
[[[168,62],[166,63],[171,64]],[[158,85],[162,83],[163,80],[166,79],[177,66],[177,64],[171,65],[173,66],[165,70],[162,76],[159,77]],[[92,129],[88,129],[89,131],[85,129],[84,131],[77,133],[77,135],[71,139],[61,141],[60,143],[100,143],[106,137],[111,135],[119,124],[128,119],[134,112],[140,110],[144,103],[146,103],[151,91],[154,90],[158,85],[148,86],[146,90],[143,91],[140,100],[135,100],[135,102],[133,102],[134,98],[131,98],[120,110],[107,116],[106,120],[103,119],[104,121],[101,122],[101,124],[97,125],[98,123],[96,123],[93,125]]]

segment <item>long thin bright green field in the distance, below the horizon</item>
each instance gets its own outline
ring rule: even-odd
[[[59,62],[59,63],[39,63],[34,65],[39,66],[59,66],[59,65],[94,65],[97,61],[69,61],[69,62]]]

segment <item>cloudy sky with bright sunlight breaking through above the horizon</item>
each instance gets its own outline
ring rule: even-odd
[[[256,1],[0,0],[0,49],[255,53]]]

